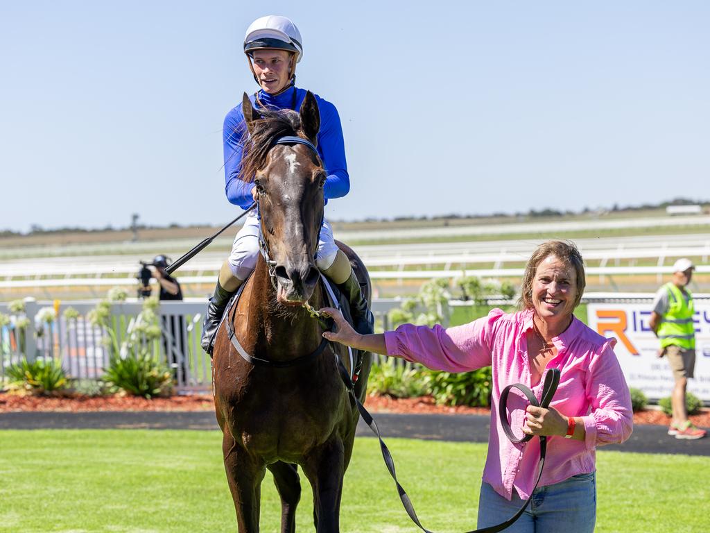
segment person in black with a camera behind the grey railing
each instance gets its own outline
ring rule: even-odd
[[[182,300],[182,289],[178,280],[170,276],[165,269],[168,268],[169,258],[156,255],[151,263],[151,273],[158,281],[160,301]],[[168,365],[175,370],[175,379],[178,379],[178,366],[182,367],[182,379],[187,380],[187,367],[185,365],[187,353],[185,352],[185,317],[160,316],[160,329],[163,332],[163,352]]]

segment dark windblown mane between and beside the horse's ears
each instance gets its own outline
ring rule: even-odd
[[[286,135],[298,135],[301,130],[301,117],[291,109],[260,109],[261,119],[244,130],[241,137],[241,168],[239,179],[246,183],[254,180],[256,171],[266,166],[266,156],[273,146],[274,139]]]

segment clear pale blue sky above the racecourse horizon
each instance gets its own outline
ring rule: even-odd
[[[0,4],[0,229],[226,222],[246,26],[337,105],[333,220],[710,197],[706,1]]]

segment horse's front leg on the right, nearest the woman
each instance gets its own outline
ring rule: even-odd
[[[340,496],[343,489],[344,448],[332,438],[305,458],[303,472],[313,488],[313,518],[317,533],[339,532]]]

